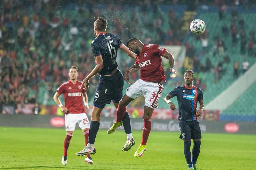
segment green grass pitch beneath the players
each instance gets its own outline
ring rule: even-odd
[[[136,144],[122,152],[126,140],[124,131],[108,135],[98,132],[92,155],[93,165],[84,162],[85,156],[75,153],[84,147],[84,136],[76,129],[68,149],[68,164],[61,165],[64,129],[0,127],[0,169],[188,169],[183,144],[178,132],[151,131],[147,151],[141,158],[134,152],[141,142],[142,131],[133,131]],[[255,169],[256,135],[202,134],[201,152],[197,160],[200,170]],[[193,143],[191,144],[192,150]]]

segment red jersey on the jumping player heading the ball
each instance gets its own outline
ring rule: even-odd
[[[162,57],[166,49],[156,44],[144,44],[137,55],[135,64],[140,66],[140,79],[143,81],[160,82],[165,80]]]

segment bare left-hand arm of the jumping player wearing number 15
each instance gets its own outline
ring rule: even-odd
[[[83,89],[88,89],[89,88],[89,80],[90,78],[92,78],[94,75],[98,74],[100,72],[100,70],[104,67],[103,65],[103,59],[102,56],[99,55],[97,57],[94,57],[95,61],[96,61],[96,66],[93,68],[93,70],[91,71],[91,73],[89,75],[87,75],[87,77],[84,78],[83,82],[82,82],[82,87],[84,86]]]

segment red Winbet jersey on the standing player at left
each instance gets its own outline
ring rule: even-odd
[[[84,113],[83,96],[85,93],[82,87],[81,81],[76,81],[73,84],[70,80],[63,83],[57,90],[59,95],[64,95],[65,107],[68,109],[68,113]]]

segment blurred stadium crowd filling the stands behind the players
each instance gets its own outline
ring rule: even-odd
[[[1,104],[36,103],[40,86],[45,87],[45,91],[48,92],[47,95],[43,96],[47,104],[47,100],[52,98],[56,87],[68,80],[68,67],[71,65],[79,68],[78,80],[83,80],[94,67],[94,58],[91,50],[91,42],[95,38],[92,29],[94,17],[104,17],[109,13],[113,14],[108,17],[109,27],[107,30],[122,37],[123,39],[121,40],[124,43],[129,38],[137,36],[146,44],[182,44],[186,33],[181,32],[179,29],[184,24],[182,18],[178,18],[175,11],[170,9],[167,12],[167,23],[170,28],[165,30],[164,20],[161,17],[163,13],[160,12],[161,9],[159,9],[158,4],[179,5],[187,4],[187,1],[140,1],[138,5],[141,7],[140,14],[142,17],[139,17],[136,12],[130,12],[131,16],[120,15],[120,11],[123,9],[131,11],[131,9],[127,8],[127,5],[129,6],[132,1],[118,1],[118,3],[115,1],[99,2],[94,3],[94,1],[90,0],[84,3],[83,1],[78,1],[74,5],[74,3],[69,2],[67,4],[67,2],[58,0],[4,0],[0,3]],[[199,2],[201,4],[205,3]],[[218,4],[219,1],[211,3]],[[104,10],[102,10],[102,4],[104,4]],[[188,5],[188,8],[195,10],[195,5],[199,4]],[[221,8],[222,5],[220,4],[218,4],[218,7],[225,10]],[[72,10],[69,10],[71,8]],[[113,11],[113,9],[115,10]],[[149,18],[148,9],[156,12],[153,18]],[[125,13],[125,10],[123,13]],[[232,12],[232,16],[234,20],[239,18],[237,17],[237,12]],[[239,25],[241,28],[240,34],[243,36],[243,21],[241,19],[239,20]],[[137,29],[138,27],[140,29]],[[231,25],[230,29],[227,25],[223,25],[223,35],[233,36],[233,32],[236,29],[234,25]],[[255,32],[252,30],[248,44],[250,55],[254,55],[254,34]],[[207,31],[201,36],[201,41],[203,46],[202,54],[204,54],[209,48]],[[227,47],[225,47],[223,40],[220,37],[216,37],[215,41],[213,46],[214,53],[224,55],[224,50]],[[236,39],[234,38],[234,45],[236,45],[235,43]],[[245,50],[246,47],[241,45],[242,48]],[[241,50],[241,53],[244,50]],[[185,59],[184,67],[193,68],[198,77],[200,77],[200,72],[214,69],[214,74],[218,75],[216,76],[217,79],[220,78],[221,63],[216,68],[213,68],[210,60],[207,60],[206,65],[201,64],[201,53],[196,53],[195,48],[189,43],[186,44],[186,52],[188,57]],[[228,62],[229,57],[225,56],[224,58],[225,62]],[[125,69],[131,64],[122,61],[119,68]],[[133,80],[137,78],[137,74],[131,76]],[[90,82],[89,97],[94,95],[97,79],[98,77],[95,76]],[[204,82],[198,81],[197,85],[204,87]]]

